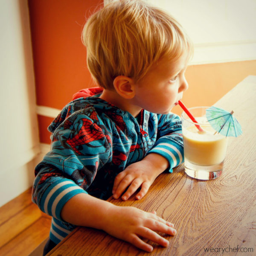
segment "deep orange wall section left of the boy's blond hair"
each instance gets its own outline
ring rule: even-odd
[[[81,30],[103,0],[28,0],[37,104],[63,108],[92,85]]]

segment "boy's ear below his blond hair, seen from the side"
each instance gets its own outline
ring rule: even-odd
[[[132,99],[135,95],[134,80],[127,76],[116,76],[113,81],[116,92],[125,99]]]

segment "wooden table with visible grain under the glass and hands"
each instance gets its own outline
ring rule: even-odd
[[[161,174],[140,201],[113,200],[134,206],[175,224],[176,236],[165,236],[150,255],[256,255],[256,76],[248,76],[215,106],[234,111],[243,135],[230,138],[224,172],[216,180],[188,177],[183,165]],[[237,252],[239,247],[240,251]],[[207,253],[205,250],[209,250]],[[252,252],[253,250],[253,252]],[[78,227],[48,255],[148,255],[107,233]]]

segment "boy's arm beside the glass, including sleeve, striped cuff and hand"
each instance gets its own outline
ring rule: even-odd
[[[158,115],[158,140],[143,160],[133,163],[120,172],[114,181],[113,198],[122,195],[127,200],[138,188],[137,199],[148,191],[155,178],[183,162],[183,139],[180,117],[175,114]]]

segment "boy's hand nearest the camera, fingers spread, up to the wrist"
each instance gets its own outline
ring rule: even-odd
[[[112,236],[128,241],[134,246],[151,252],[153,247],[142,238],[149,239],[157,244],[167,247],[169,241],[156,232],[171,236],[176,234],[174,225],[158,217],[156,212],[144,212],[135,207],[119,207],[113,205],[106,212],[103,229]]]

